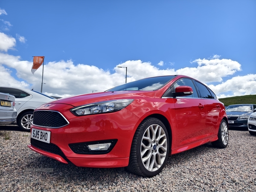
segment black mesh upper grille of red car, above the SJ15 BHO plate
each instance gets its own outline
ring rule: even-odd
[[[67,119],[58,111],[34,111],[33,125],[46,128],[61,128],[68,124]]]

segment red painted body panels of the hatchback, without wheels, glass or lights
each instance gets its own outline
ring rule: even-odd
[[[218,129],[222,119],[227,119],[224,105],[218,99],[162,98],[163,93],[186,76],[176,76],[164,87],[155,91],[117,91],[92,93],[58,99],[49,106],[38,110],[60,112],[69,125],[62,128],[32,128],[50,131],[50,143],[57,145],[64,155],[76,166],[113,168],[125,167],[129,163],[131,143],[140,123],[148,116],[159,118],[169,130],[171,150],[169,154],[195,148],[218,140]],[[113,112],[75,116],[70,109],[95,102],[114,99],[134,99],[126,108]],[[117,139],[114,148],[107,154],[76,154],[68,144],[98,140]],[[28,145],[33,151],[54,158],[62,163],[67,161],[59,155]]]

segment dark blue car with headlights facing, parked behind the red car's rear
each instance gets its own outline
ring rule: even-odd
[[[246,128],[248,118],[251,113],[256,111],[254,104],[229,105],[226,108],[228,125],[230,128]]]

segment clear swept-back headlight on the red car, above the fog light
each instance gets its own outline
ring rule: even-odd
[[[111,113],[119,111],[127,107],[134,99],[120,99],[105,102],[92,103],[88,105],[82,105],[71,109],[70,111],[76,116],[91,115],[99,113]]]

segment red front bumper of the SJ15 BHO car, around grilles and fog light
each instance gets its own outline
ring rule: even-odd
[[[53,110],[53,109],[51,109]],[[129,163],[131,142],[140,119],[130,111],[123,109],[115,113],[88,116],[74,116],[69,110],[61,114],[69,124],[61,128],[32,128],[50,131],[50,143],[31,139],[28,145],[33,151],[51,157],[62,163],[69,161],[76,166],[114,168],[125,167]],[[78,154],[70,144],[101,140],[117,140],[113,149],[107,154]],[[38,143],[39,142],[39,143]]]

